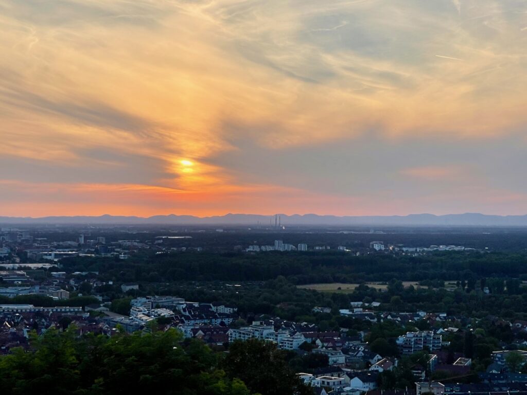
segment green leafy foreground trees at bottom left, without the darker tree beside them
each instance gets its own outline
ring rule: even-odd
[[[199,341],[182,342],[174,329],[111,338],[79,338],[75,328],[49,330],[40,338],[33,335],[31,347],[0,357],[0,393],[251,394],[241,380],[218,369],[218,354]],[[278,374],[272,363],[268,368]],[[290,380],[288,374],[284,378]]]

